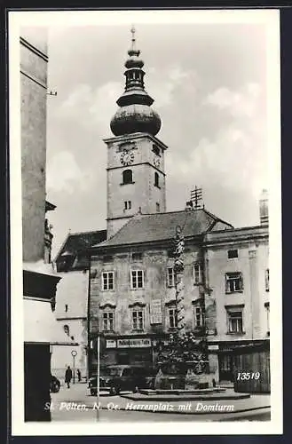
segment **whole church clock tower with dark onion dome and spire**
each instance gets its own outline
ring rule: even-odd
[[[131,29],[129,59],[125,62],[126,85],[110,123],[114,137],[107,144],[107,237],[132,216],[166,211],[164,152],[155,136],[161,119],[144,88],[144,62],[136,49]]]

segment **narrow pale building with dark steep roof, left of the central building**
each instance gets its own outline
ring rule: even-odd
[[[70,233],[54,259],[54,266],[62,279],[56,297],[55,319],[67,337],[78,343],[75,369],[81,371],[83,378],[88,375],[88,297],[89,297],[89,246],[107,239],[107,230],[86,233]],[[51,371],[64,378],[67,365],[73,368],[70,347],[53,347]]]

